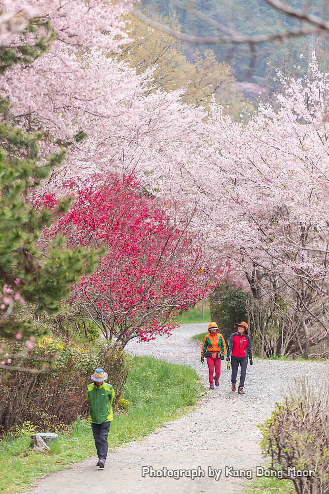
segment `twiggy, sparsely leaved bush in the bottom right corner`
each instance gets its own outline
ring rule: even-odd
[[[271,469],[280,466],[297,494],[329,492],[328,377],[322,382],[295,379],[293,392],[261,427],[261,447],[271,456]],[[315,475],[297,477],[294,469],[314,470]]]

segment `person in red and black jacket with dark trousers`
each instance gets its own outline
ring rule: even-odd
[[[243,387],[245,385],[248,357],[250,365],[253,365],[253,347],[252,340],[248,334],[248,324],[242,322],[236,324],[237,331],[232,333],[228,340],[228,349],[226,360],[229,361],[231,356],[231,369],[232,369],[232,391],[235,391],[236,376],[238,373],[238,367],[240,364],[240,383],[238,388],[239,395],[244,395]]]

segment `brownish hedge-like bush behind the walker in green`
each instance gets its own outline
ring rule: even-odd
[[[32,371],[0,369],[0,430],[32,422],[39,428],[87,416],[85,389],[95,368],[104,367],[119,400],[128,370],[124,354],[110,342],[93,350],[42,337],[27,354]],[[13,359],[13,366],[15,361]]]

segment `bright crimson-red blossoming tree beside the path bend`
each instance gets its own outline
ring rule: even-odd
[[[70,247],[107,249],[97,271],[72,287],[72,301],[123,347],[169,335],[177,326],[171,316],[211,289],[190,218],[175,223],[132,176],[89,184],[68,185],[74,206],[50,232],[65,235]]]

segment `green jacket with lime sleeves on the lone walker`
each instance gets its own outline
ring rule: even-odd
[[[86,392],[89,409],[89,422],[102,424],[113,420],[114,389],[111,384],[104,382],[100,386],[91,383]]]

